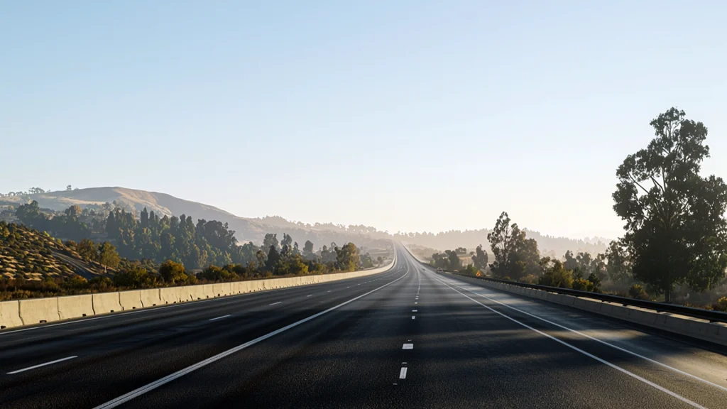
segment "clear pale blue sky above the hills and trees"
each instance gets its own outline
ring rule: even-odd
[[[671,106],[727,177],[727,2],[7,1],[0,191],[124,186],[395,231],[622,234]]]

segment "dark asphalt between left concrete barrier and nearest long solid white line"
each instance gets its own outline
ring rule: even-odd
[[[406,274],[390,271],[0,333],[0,408],[91,408]],[[224,317],[224,318],[221,318]],[[16,370],[76,357],[33,370]]]

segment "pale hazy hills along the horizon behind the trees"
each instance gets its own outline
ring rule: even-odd
[[[355,242],[357,245],[371,245],[376,239],[399,239],[411,245],[430,247],[434,250],[446,250],[456,247],[467,247],[473,250],[477,245],[485,245],[489,249],[487,234],[489,229],[473,229],[466,231],[444,231],[433,233],[396,233],[378,231],[370,226],[342,226],[334,223],[294,223],[281,216],[264,218],[244,218],[233,215],[209,204],[191,202],[169,194],[153,191],[142,191],[123,187],[82,188],[68,191],[52,191],[28,196],[5,196],[3,202],[20,204],[28,199],[36,200],[40,207],[51,210],[65,210],[73,204],[81,207],[103,205],[116,202],[121,207],[139,213],[144,207],[158,215],[190,215],[194,220],[205,219],[228,223],[230,229],[236,231],[240,242],[262,242],[266,233],[290,234],[297,242],[310,240],[316,247],[331,242]],[[494,222],[494,221],[493,221]],[[524,226],[523,226],[524,227]],[[550,237],[537,231],[529,231],[529,237],[537,240],[543,254],[561,257],[566,250],[602,253],[609,239],[594,237],[593,239],[569,239]]]

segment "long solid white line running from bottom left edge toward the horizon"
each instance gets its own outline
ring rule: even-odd
[[[293,322],[292,324],[286,325],[285,327],[278,328],[277,330],[274,330],[271,333],[267,333],[265,335],[262,335],[260,337],[257,337],[257,338],[255,338],[252,341],[247,341],[246,343],[241,344],[241,345],[238,345],[238,346],[236,346],[236,347],[234,347],[232,349],[228,349],[225,352],[220,352],[220,354],[214,355],[213,357],[209,357],[206,360],[203,360],[201,362],[197,362],[196,364],[190,365],[187,368],[184,368],[182,370],[177,370],[177,372],[172,373],[172,374],[167,375],[167,376],[164,376],[164,378],[161,378],[161,379],[158,379],[156,381],[153,381],[150,384],[147,384],[147,385],[142,386],[140,388],[134,389],[132,392],[128,392],[126,394],[123,394],[120,397],[117,397],[116,399],[113,399],[113,400],[110,400],[108,402],[105,402],[105,403],[103,403],[101,405],[98,405],[94,409],[110,409],[110,408],[116,408],[117,406],[122,405],[125,402],[128,402],[129,400],[134,399],[134,397],[141,396],[142,394],[145,394],[146,392],[149,392],[149,391],[151,391],[153,389],[156,389],[159,386],[162,386],[164,384],[168,384],[169,382],[174,381],[174,379],[177,379],[177,378],[180,378],[182,376],[185,376],[188,373],[191,373],[191,372],[193,372],[195,370],[198,370],[199,368],[203,368],[204,366],[209,365],[212,362],[221,360],[222,358],[227,357],[228,355],[231,355],[231,354],[234,354],[235,352],[238,352],[238,351],[241,351],[243,349],[246,349],[248,346],[252,346],[254,344],[257,344],[260,341],[265,341],[266,339],[268,339],[268,338],[270,338],[270,337],[272,337],[274,335],[278,335],[279,333],[282,333],[282,332],[284,332],[286,330],[289,330],[292,327],[297,327],[298,325],[301,325],[301,324],[303,324],[305,322],[308,322],[311,319],[315,319],[315,318],[321,317],[321,315],[326,314],[326,313],[329,313],[330,311],[333,311],[334,309],[339,309],[340,307],[345,306],[348,303],[352,303],[353,301],[356,301],[359,298],[365,297],[366,295],[369,295],[371,293],[374,293],[375,291],[381,290],[383,287],[387,287],[389,285],[392,285],[393,283],[395,283],[395,282],[399,281],[400,279],[403,279],[404,277],[406,277],[406,274],[409,274],[409,267],[406,268],[406,273],[404,273],[398,279],[395,279],[392,282],[388,282],[387,284],[382,285],[381,287],[375,288],[374,290],[371,290],[368,293],[364,293],[364,294],[358,295],[357,297],[351,298],[350,300],[345,301],[343,303],[340,303],[337,306],[332,306],[331,308],[326,309],[325,311],[318,312],[317,314],[313,314],[310,317],[301,319],[300,321],[297,321],[297,322]]]

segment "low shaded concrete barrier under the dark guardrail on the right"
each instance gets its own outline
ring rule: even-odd
[[[595,298],[549,293],[543,290],[518,287],[517,285],[507,285],[499,282],[488,282],[486,280],[477,280],[476,282],[485,287],[539,298],[551,303],[571,306],[577,309],[595,312],[596,314],[623,319],[624,321],[727,346],[727,324],[724,322],[709,322],[705,319],[686,317],[679,314],[657,312],[636,306],[623,306],[619,303],[609,303]]]

